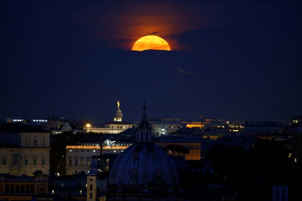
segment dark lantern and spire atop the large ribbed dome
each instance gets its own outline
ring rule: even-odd
[[[144,107],[143,107],[143,116],[142,121],[137,126],[137,135],[136,135],[136,142],[143,143],[143,142],[151,142],[151,134],[152,134],[152,127],[147,122],[147,116],[146,116],[146,106],[145,106],[145,100],[144,100]]]

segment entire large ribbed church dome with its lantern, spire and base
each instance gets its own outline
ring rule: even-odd
[[[106,200],[181,200],[174,161],[152,142],[152,128],[145,110],[137,126],[136,142],[114,161]]]

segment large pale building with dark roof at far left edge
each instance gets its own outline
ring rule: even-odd
[[[43,129],[24,123],[0,125],[0,173],[31,176],[49,174],[49,136]]]

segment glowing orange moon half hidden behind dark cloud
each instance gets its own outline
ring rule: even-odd
[[[132,50],[143,51],[146,49],[159,49],[159,50],[171,50],[167,41],[158,36],[144,36],[138,39]]]

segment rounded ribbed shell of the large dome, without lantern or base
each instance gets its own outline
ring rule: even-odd
[[[109,186],[179,187],[172,159],[153,143],[135,143],[114,162]]]

